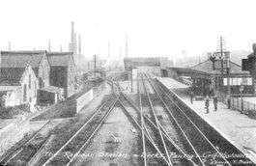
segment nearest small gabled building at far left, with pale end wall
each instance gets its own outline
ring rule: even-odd
[[[23,68],[15,68],[11,62],[9,65],[10,68],[7,66],[1,68],[1,106],[8,107],[20,104],[34,106],[37,103],[37,90],[39,88],[34,70],[29,64]]]

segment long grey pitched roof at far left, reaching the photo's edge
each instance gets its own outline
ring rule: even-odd
[[[1,51],[1,68],[39,68],[46,51]]]

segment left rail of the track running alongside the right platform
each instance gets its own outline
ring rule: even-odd
[[[155,90],[155,87],[154,88],[154,91],[156,92]],[[158,93],[156,92],[156,96],[159,97]],[[187,141],[187,143],[190,145],[191,149],[193,150],[193,152],[195,152],[197,158],[199,159],[200,163],[202,165],[205,166],[205,163],[204,161],[202,160],[201,156],[199,155],[199,153],[195,150],[193,144],[190,142],[190,140],[188,139],[188,137],[186,136],[185,134],[185,131],[184,129],[182,128],[182,126],[178,123],[178,121],[176,120],[176,118],[174,117],[174,115],[172,114],[172,112],[170,111],[169,107],[167,106],[167,104],[163,101],[163,99],[161,97],[159,97],[159,99],[161,100],[161,102],[163,103],[165,109],[167,110],[167,112],[169,113],[169,115],[172,117],[172,119],[174,120],[175,124],[177,124],[177,126],[179,127],[179,129],[181,130],[181,132],[183,133],[183,135],[185,136],[185,140]]]

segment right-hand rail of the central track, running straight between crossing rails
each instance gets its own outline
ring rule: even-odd
[[[173,166],[173,163],[172,163],[172,161],[171,161],[171,158],[170,158],[169,152],[168,152],[168,150],[167,150],[165,141],[164,141],[164,139],[163,139],[162,133],[161,133],[160,128],[159,128],[159,122],[158,122],[158,120],[157,120],[157,118],[156,118],[156,111],[155,111],[155,108],[154,108],[154,106],[153,106],[153,103],[152,103],[152,100],[151,100],[151,98],[150,98],[150,96],[149,96],[149,93],[147,92],[147,88],[146,88],[146,85],[145,85],[145,82],[144,82],[143,75],[141,75],[141,81],[142,81],[142,85],[143,85],[143,88],[144,88],[144,92],[145,92],[145,94],[146,94],[146,96],[147,96],[147,98],[148,98],[148,101],[149,101],[149,103],[150,103],[150,108],[151,108],[152,111],[153,111],[153,115],[154,115],[154,118],[155,118],[155,121],[156,121],[157,131],[158,131],[158,134],[160,135],[160,141],[161,141],[161,144],[163,145],[164,152],[165,152],[165,154],[166,154],[166,156],[167,156],[167,159],[168,159],[168,162],[169,162],[168,165]]]

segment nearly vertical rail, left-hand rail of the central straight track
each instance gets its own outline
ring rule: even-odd
[[[142,110],[142,101],[141,101],[141,96],[140,96],[140,91],[139,91],[139,81],[137,81],[137,93],[139,97],[139,109],[140,109],[140,122],[141,126],[144,126],[144,118],[143,118],[143,110]],[[141,129],[142,133],[142,147],[143,147],[143,160],[144,160],[144,166],[147,166],[147,152],[146,152],[146,144],[145,144],[145,134],[144,134],[144,129]]]

